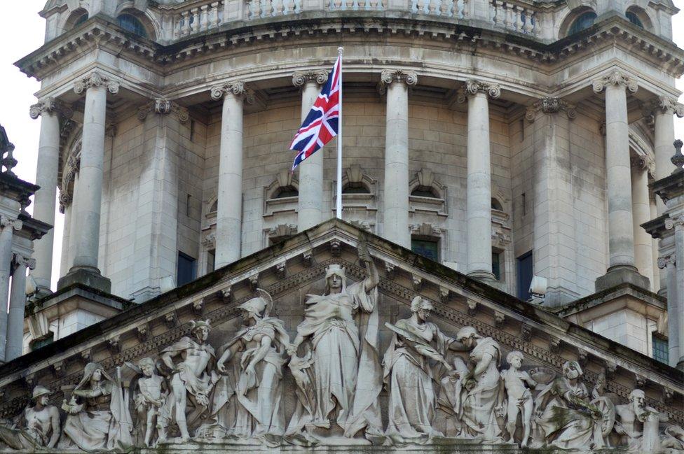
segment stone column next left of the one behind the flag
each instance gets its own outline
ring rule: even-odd
[[[212,87],[212,98],[223,99],[219,190],[216,216],[216,269],[240,258],[242,236],[242,108],[253,95],[238,81]]]

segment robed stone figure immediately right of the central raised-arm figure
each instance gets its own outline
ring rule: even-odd
[[[435,416],[435,380],[430,361],[441,363],[446,371],[447,350],[463,346],[427,322],[432,304],[421,297],[411,302],[411,318],[385,325],[394,332],[383,360],[383,378],[390,392],[388,427],[385,435],[395,443],[425,442],[444,435],[432,425]]]

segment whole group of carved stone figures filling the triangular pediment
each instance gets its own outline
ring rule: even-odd
[[[378,270],[364,243],[359,260],[365,276],[357,282],[329,264],[322,294],[306,296],[297,322],[279,318],[277,302],[257,289],[236,304],[242,325],[218,336],[215,349],[212,323],[196,320],[157,357],[111,372],[88,363],[61,412],[36,386],[20,414],[0,421],[0,447],[465,443],[684,452],[684,430],[646,406],[643,390],[620,401],[604,376],[587,383],[577,361],[557,372],[526,364],[525,353],[505,351],[475,327],[449,332],[430,321],[433,303],[420,295],[408,318],[381,322]]]

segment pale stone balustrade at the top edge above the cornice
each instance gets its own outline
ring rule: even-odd
[[[542,35],[540,12],[531,0],[403,0],[403,4],[402,0],[193,0],[161,7],[160,22],[170,24],[172,30],[163,34],[163,39],[177,41],[228,22],[296,15],[308,10],[409,10],[420,15],[476,20],[518,34]]]

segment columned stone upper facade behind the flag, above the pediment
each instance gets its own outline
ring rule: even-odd
[[[62,277],[50,293],[48,234],[25,351],[331,218],[334,147],[294,174],[287,148],[342,45],[344,220],[676,366],[684,304],[641,227],[684,115],[676,12],[48,1],[17,65],[42,83],[34,213],[52,223],[59,190]]]

